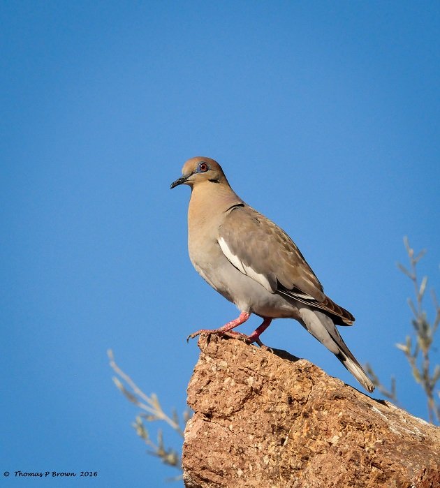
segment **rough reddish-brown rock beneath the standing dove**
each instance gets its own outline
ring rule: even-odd
[[[440,487],[439,427],[284,351],[198,345],[186,487]]]

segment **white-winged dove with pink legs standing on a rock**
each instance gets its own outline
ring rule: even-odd
[[[191,158],[182,177],[170,186],[191,186],[188,248],[200,276],[233,302],[240,316],[209,334],[235,334],[261,345],[260,334],[274,318],[294,318],[336,355],[372,392],[374,385],[342,340],[335,325],[352,325],[354,317],[324,294],[323,286],[290,237],[249,207],[230,188],[217,161]],[[251,313],[263,323],[249,336],[233,332]]]

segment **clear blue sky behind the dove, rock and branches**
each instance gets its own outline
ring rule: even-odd
[[[394,347],[412,293],[396,263],[408,235],[440,293],[438,2],[3,1],[0,20],[3,471],[174,474],[131,429],[106,350],[183,411],[186,335],[237,316],[189,262],[189,189],[168,189],[196,155],[293,237],[356,317],[353,353],[425,417]],[[293,320],[263,342],[358,387]]]

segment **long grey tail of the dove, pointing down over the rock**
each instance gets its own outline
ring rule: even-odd
[[[372,381],[346,346],[332,319],[325,313],[306,306],[300,308],[300,316],[305,329],[342,362],[365,390],[372,392],[374,390]]]

